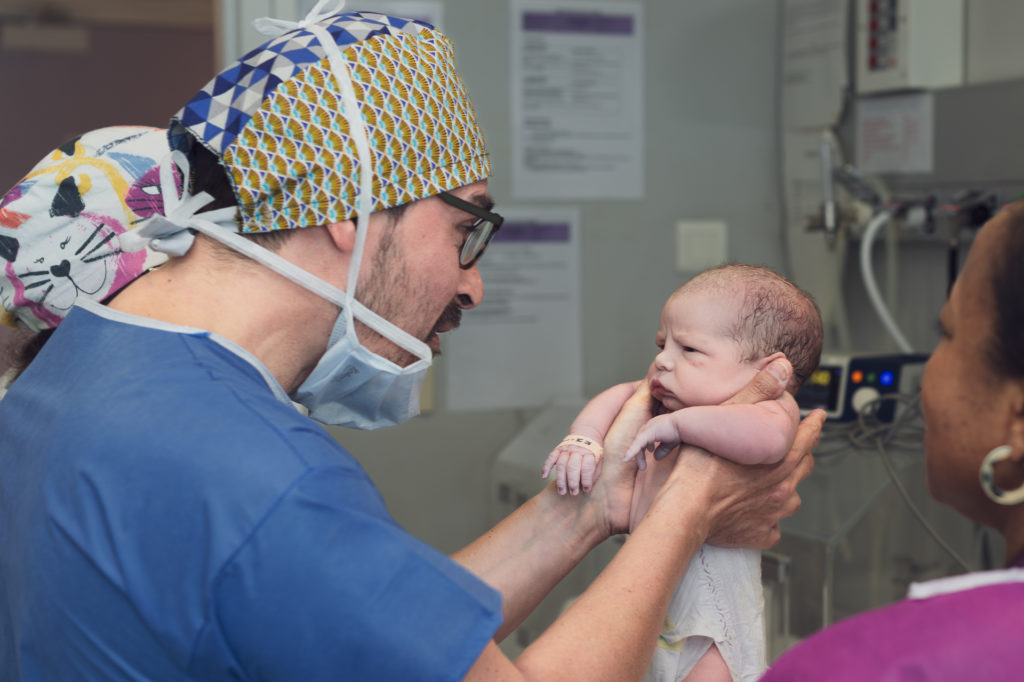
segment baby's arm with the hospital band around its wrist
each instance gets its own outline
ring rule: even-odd
[[[548,455],[541,469],[541,477],[547,478],[554,468],[555,484],[559,495],[565,495],[566,492],[579,495],[581,487],[584,493],[590,493],[601,471],[601,460],[595,456],[592,447],[596,445],[597,452],[601,452],[604,434],[608,432],[611,423],[618,415],[618,410],[627,398],[633,395],[639,383],[633,381],[618,384],[598,393],[572,421],[569,436]],[[593,445],[586,447],[583,444],[574,444],[570,436],[582,436],[584,440],[593,441]]]

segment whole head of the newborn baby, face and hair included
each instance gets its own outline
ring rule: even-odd
[[[677,289],[662,310],[648,378],[670,410],[716,404],[768,363],[793,365],[796,393],[818,365],[821,314],[807,293],[759,265],[722,265]]]

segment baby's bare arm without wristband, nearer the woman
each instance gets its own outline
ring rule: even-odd
[[[685,442],[739,464],[770,464],[790,452],[799,424],[800,408],[788,393],[754,404],[683,408],[647,422],[626,459],[654,443]]]

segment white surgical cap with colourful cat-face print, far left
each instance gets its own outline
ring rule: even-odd
[[[46,155],[0,199],[0,322],[52,329],[76,300],[101,301],[167,259],[123,250],[121,236],[163,212],[168,152],[166,130],[100,128]]]

